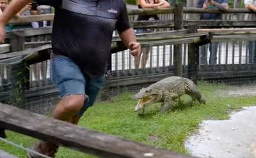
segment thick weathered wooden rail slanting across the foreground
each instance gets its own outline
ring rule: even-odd
[[[190,157],[74,126],[30,111],[20,110],[7,104],[0,104],[0,123],[6,129],[100,157],[141,158],[148,157],[148,155],[157,158]]]

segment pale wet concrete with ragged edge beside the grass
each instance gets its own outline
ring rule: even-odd
[[[205,120],[185,147],[196,157],[255,158],[256,106],[233,113],[229,120]]]

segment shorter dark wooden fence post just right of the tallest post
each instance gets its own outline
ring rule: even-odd
[[[189,25],[188,33],[196,33],[197,25]],[[188,78],[197,83],[197,66],[199,61],[199,46],[195,43],[188,44]]]

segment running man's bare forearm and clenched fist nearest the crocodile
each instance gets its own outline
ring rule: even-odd
[[[137,57],[141,53],[140,43],[136,41],[136,36],[132,28],[127,29],[122,32],[118,32],[120,38],[122,39],[124,45],[131,49],[131,54]]]

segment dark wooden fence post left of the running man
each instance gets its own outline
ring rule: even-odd
[[[19,32],[19,34],[12,34],[10,38],[11,52],[24,50],[25,37],[20,34],[22,34],[22,32]],[[15,106],[22,106],[25,97],[25,89],[29,88],[29,70],[26,62],[22,61],[22,56],[20,56],[19,60],[19,62],[13,64],[10,68],[10,82],[12,85],[10,103]]]

